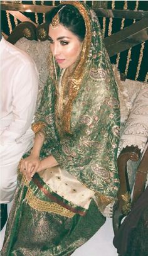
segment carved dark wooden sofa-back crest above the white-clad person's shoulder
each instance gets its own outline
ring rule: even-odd
[[[14,45],[22,37],[26,37],[28,40],[37,40],[36,26],[29,21],[20,23],[8,36],[7,41]]]

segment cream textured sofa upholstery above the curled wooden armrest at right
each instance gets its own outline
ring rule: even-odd
[[[134,94],[134,92],[133,92]],[[148,140],[148,84],[140,89],[132,111],[120,137],[119,151],[126,146],[137,146],[141,152]]]

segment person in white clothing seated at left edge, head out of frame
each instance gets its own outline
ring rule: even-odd
[[[1,39],[1,230],[16,189],[19,160],[34,142],[38,72],[33,60]]]

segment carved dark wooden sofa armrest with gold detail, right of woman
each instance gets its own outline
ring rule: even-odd
[[[140,149],[138,147],[127,146],[123,148],[117,159],[117,165],[119,170],[120,187],[117,194],[117,203],[114,206],[113,214],[113,228],[114,233],[119,229],[122,218],[126,216],[130,211],[130,189],[129,181],[127,177],[127,161],[137,161],[140,158]]]

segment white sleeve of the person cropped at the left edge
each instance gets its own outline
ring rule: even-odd
[[[11,77],[13,83],[13,121],[1,133],[2,145],[17,142],[33,121],[38,94],[38,72],[32,62],[20,65]]]

